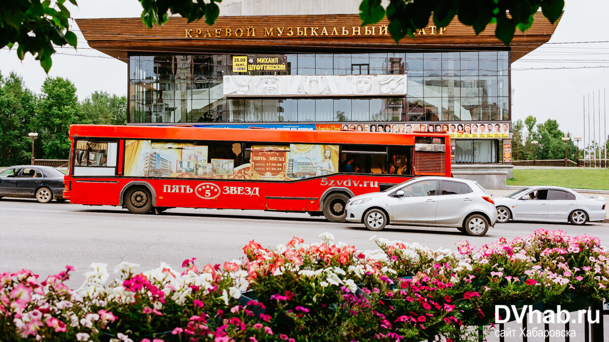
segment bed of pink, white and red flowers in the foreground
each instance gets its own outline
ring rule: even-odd
[[[421,341],[473,338],[464,326],[495,321],[496,304],[598,304],[607,298],[609,250],[596,237],[538,230],[478,250],[431,250],[375,239],[379,250],[294,238],[243,260],[161,264],[108,282],[93,264],[77,290],[73,268],[39,281],[0,276],[0,336],[53,341]],[[583,300],[583,301],[582,301]],[[583,303],[583,304],[582,304]],[[469,333],[472,333],[471,331]],[[477,338],[477,335],[476,335]]]

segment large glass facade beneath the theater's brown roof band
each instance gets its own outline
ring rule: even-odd
[[[286,71],[250,75],[406,74],[404,97],[227,98],[232,55],[131,55],[129,122],[510,120],[509,52],[283,54]]]

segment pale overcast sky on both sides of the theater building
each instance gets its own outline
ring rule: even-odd
[[[79,5],[79,8],[71,8],[73,18],[138,17],[142,10],[137,0],[80,0]],[[592,92],[597,94],[600,90],[602,97],[604,88],[609,88],[607,13],[607,0],[566,1],[565,15],[550,40],[550,43],[557,44],[544,44],[512,64],[513,120],[524,119],[528,115],[536,116],[538,122],[554,118],[562,130],[571,131],[576,136],[583,134],[583,96]],[[82,35],[77,35],[80,49],[58,49],[49,75],[60,75],[74,82],[79,99],[84,99],[95,90],[124,95],[127,92],[127,65],[96,50],[87,49]],[[572,43],[588,41],[601,43]],[[589,69],[582,69],[583,66]],[[607,68],[592,68],[598,66]],[[7,49],[0,50],[0,71],[3,75],[10,71],[17,72],[23,76],[26,86],[36,92],[40,91],[46,77],[38,61],[34,61],[31,55],[26,55],[21,62],[14,51]],[[586,99],[586,113],[587,106]],[[602,99],[600,106],[602,119]],[[597,130],[598,127],[597,121]],[[586,127],[586,134],[589,132]]]

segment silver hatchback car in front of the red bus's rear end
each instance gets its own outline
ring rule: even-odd
[[[476,181],[434,176],[353,197],[345,210],[349,222],[362,222],[371,231],[403,223],[454,227],[471,236],[484,236],[497,220],[493,197]]]

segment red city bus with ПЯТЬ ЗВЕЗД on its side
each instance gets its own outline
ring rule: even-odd
[[[63,198],[123,206],[309,212],[345,222],[353,196],[451,176],[446,133],[72,125]]]

